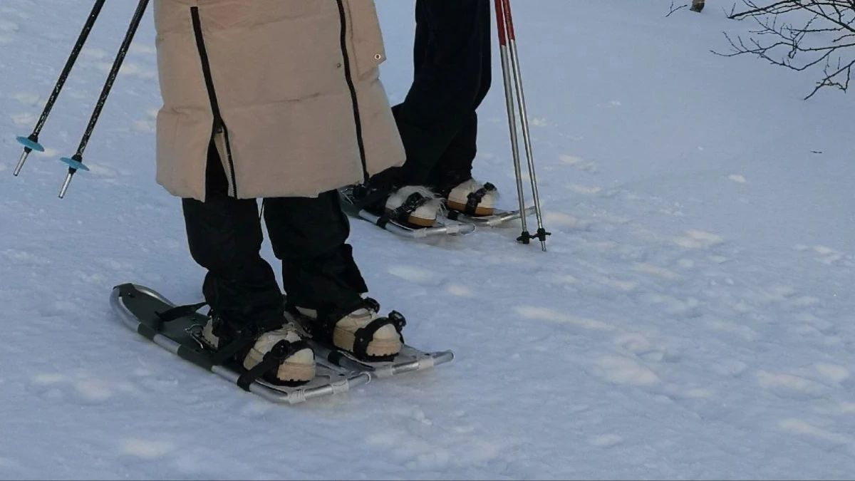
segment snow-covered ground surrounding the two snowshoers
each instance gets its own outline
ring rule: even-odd
[[[154,181],[150,13],[57,199],[134,2],[110,2],[20,177],[91,2],[0,4],[0,478],[846,478],[855,472],[852,98],[752,58],[716,0],[516,3],[549,252],[516,229],[353,223],[372,295],[434,371],[280,407],[126,330],[110,288],[198,300]],[[393,101],[412,3],[378,2]],[[515,202],[504,98],[477,174]],[[820,152],[820,153],[817,153]],[[269,249],[268,258],[273,258]]]

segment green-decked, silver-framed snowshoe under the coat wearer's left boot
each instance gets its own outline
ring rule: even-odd
[[[156,291],[131,283],[113,288],[110,294],[110,305],[123,324],[140,336],[232,383],[238,383],[241,376],[238,363],[230,361],[222,365],[213,365],[210,360],[213,351],[201,341],[199,333],[208,320],[207,316],[194,312],[184,318],[159,323],[157,313],[165,312],[175,305]],[[162,324],[162,327],[158,324]],[[320,355],[315,357],[321,358]],[[309,383],[287,387],[258,379],[253,381],[246,390],[268,401],[297,404],[339,394],[370,381],[371,377],[364,369],[347,369],[340,365],[327,365],[322,362],[322,359],[317,361],[315,378]]]

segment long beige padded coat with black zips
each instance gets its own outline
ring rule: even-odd
[[[239,199],[314,197],[404,163],[373,0],[155,0],[157,182],[203,200],[209,140]]]

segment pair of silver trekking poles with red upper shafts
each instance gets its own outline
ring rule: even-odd
[[[508,127],[510,128],[510,147],[514,159],[514,174],[516,175],[516,194],[520,201],[520,220],[522,221],[522,234],[516,238],[523,244],[528,244],[532,239],[540,240],[540,247],[546,250],[546,232],[543,227],[543,216],[540,212],[540,195],[537,189],[537,177],[534,174],[534,156],[532,153],[531,135],[528,132],[528,112],[526,110],[525,94],[522,91],[522,72],[520,71],[519,55],[516,51],[516,34],[514,33],[514,20],[510,15],[510,0],[495,0],[496,23],[498,25],[498,45],[502,59],[502,74],[504,78],[504,100],[508,110]],[[510,52],[510,57],[509,57]],[[513,86],[511,86],[513,76]],[[520,123],[522,125],[522,141],[526,149],[528,160],[528,177],[532,184],[532,195],[534,197],[534,215],[537,217],[537,234],[531,235],[526,225],[525,194],[522,190],[522,169],[520,165],[519,140],[516,136],[516,112],[514,108],[514,87],[516,87],[516,101],[520,105]]]

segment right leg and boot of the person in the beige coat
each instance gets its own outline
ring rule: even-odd
[[[313,318],[317,336],[359,357],[400,351],[403,326],[380,318],[379,306],[363,299],[368,287],[346,243],[350,223],[338,192],[265,199],[264,222],[282,260],[289,311]]]

